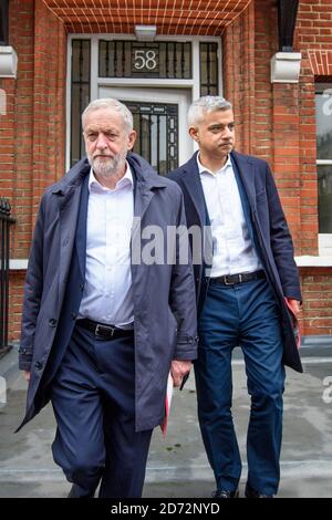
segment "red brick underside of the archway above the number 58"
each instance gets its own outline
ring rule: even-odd
[[[251,0],[43,0],[68,32],[134,33],[135,24],[157,34],[219,35]]]

